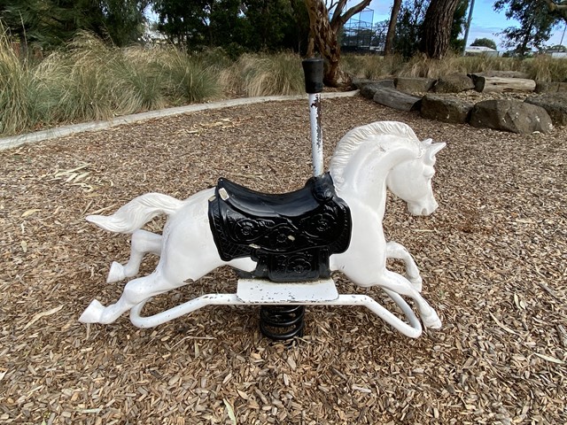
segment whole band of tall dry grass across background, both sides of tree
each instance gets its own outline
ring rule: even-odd
[[[567,81],[567,59],[527,60],[449,55],[439,61],[417,55],[344,55],[343,68],[361,78],[397,75],[438,78],[447,73],[513,70],[538,81]],[[0,27],[0,135],[226,96],[304,92],[299,55],[245,54],[224,50],[188,54],[174,46],[118,49],[89,33],[42,62],[20,58]]]

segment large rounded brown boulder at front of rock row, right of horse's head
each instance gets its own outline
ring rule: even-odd
[[[519,134],[547,133],[553,128],[548,112],[535,104],[517,100],[493,99],[478,102],[472,108],[470,125]]]

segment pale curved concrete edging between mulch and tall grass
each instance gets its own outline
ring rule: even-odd
[[[359,90],[347,92],[330,92],[324,93],[324,98],[333,97],[353,97],[358,94]],[[35,133],[27,133],[25,135],[12,135],[10,137],[0,138],[0,151],[12,149],[25,143],[43,142],[44,140],[56,139],[66,135],[74,135],[85,131],[104,130],[106,128],[113,128],[122,126],[124,124],[131,124],[154,118],[171,117],[174,115],[181,115],[183,113],[206,111],[209,109],[229,108],[231,106],[239,106],[242,104],[260,104],[262,102],[283,102],[286,100],[299,100],[307,99],[306,95],[296,96],[266,96],[266,97],[244,97],[239,99],[223,100],[220,102],[212,102],[210,104],[189,104],[187,106],[179,106],[176,108],[160,109],[158,111],[133,113],[131,115],[124,115],[121,117],[113,118],[112,120],[93,121],[82,124],[74,124],[71,126],[63,126],[58,128],[50,128],[49,130],[36,131]]]

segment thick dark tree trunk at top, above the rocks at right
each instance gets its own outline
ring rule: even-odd
[[[420,47],[429,58],[440,59],[447,54],[454,10],[458,3],[459,0],[431,0],[423,19]]]

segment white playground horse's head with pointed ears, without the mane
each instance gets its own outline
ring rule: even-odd
[[[422,142],[422,154],[400,163],[388,174],[386,185],[394,195],[408,203],[413,215],[429,215],[439,206],[433,196],[431,180],[435,174],[435,155],[446,143]]]

